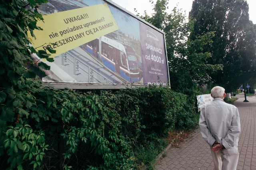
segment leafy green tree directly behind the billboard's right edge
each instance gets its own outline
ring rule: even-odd
[[[214,32],[188,40],[193,22],[188,22],[182,10],[176,7],[168,14],[167,5],[168,0],[157,0],[153,4],[152,16],[145,11],[144,16],[140,17],[165,32],[172,89],[194,96],[197,85],[204,85],[210,80],[209,72],[222,70],[221,64],[206,63],[212,56],[208,51],[202,50],[206,45],[212,44]]]

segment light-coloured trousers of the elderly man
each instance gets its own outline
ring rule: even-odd
[[[234,146],[230,149],[224,149],[222,152],[212,152],[215,170],[236,170],[238,164],[239,152],[238,147]]]

